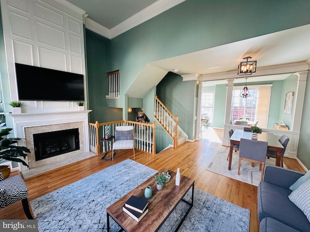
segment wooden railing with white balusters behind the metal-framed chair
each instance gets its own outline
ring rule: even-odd
[[[152,155],[156,154],[156,145],[155,145],[155,122],[153,124],[141,123],[129,120],[123,121],[114,121],[107,123],[88,123],[89,125],[89,134],[90,134],[90,151],[96,154],[97,156],[109,151],[112,149],[113,141],[110,141],[107,144],[100,142],[102,139],[99,137],[99,134],[102,136],[105,135],[106,128],[110,131],[110,135],[114,135],[116,126],[133,126],[134,127],[134,142],[135,149],[138,149],[142,152],[149,153]],[[100,131],[102,131],[100,133]],[[102,150],[102,152],[101,152]]]

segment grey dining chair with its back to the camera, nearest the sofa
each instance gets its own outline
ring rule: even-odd
[[[262,171],[261,180],[263,181],[267,147],[267,142],[241,138],[239,146],[238,175],[240,175],[242,160],[251,162],[252,167],[254,167],[253,163],[258,163],[260,165],[260,171]]]

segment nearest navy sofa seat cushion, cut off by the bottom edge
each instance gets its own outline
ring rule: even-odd
[[[271,217],[264,217],[260,223],[260,232],[299,232],[298,230]]]

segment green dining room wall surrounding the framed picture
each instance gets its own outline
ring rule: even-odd
[[[296,89],[297,89],[297,76],[292,74],[283,81],[283,91],[281,94],[281,107],[280,107],[280,111],[279,111],[280,112],[279,121],[285,123],[286,126],[289,127],[289,129],[291,129],[291,127],[292,127],[293,114],[288,114],[288,113],[283,112],[284,102],[285,102],[285,94],[287,94],[289,92],[296,92]],[[293,101],[293,106],[294,106],[294,102],[295,102],[295,98]],[[294,109],[292,109],[292,112],[293,111],[294,111]]]

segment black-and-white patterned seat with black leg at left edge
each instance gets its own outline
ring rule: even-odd
[[[0,209],[18,201],[22,202],[28,219],[33,219],[28,204],[28,188],[21,175],[3,179],[3,174],[0,172]]]

